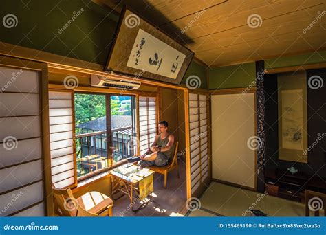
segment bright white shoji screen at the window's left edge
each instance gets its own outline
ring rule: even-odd
[[[49,92],[50,150],[52,183],[67,188],[76,181],[74,148],[74,93]]]

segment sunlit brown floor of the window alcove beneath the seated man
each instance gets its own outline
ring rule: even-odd
[[[164,188],[164,175],[155,173],[153,199],[138,212],[130,208],[127,196],[114,201],[113,216],[182,216],[179,212],[186,205],[186,165],[179,160],[180,179],[175,170],[169,172],[168,187]]]

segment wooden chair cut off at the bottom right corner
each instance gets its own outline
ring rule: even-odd
[[[310,199],[312,201],[309,202]],[[314,216],[319,216],[319,212],[321,210],[324,210],[324,216],[325,216],[325,203],[326,203],[325,193],[305,190],[305,216],[310,216],[310,208],[313,209],[311,211],[314,212]]]

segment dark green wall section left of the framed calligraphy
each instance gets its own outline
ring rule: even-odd
[[[17,17],[17,26],[1,24],[0,41],[102,65],[118,22],[87,0],[1,1],[1,19],[7,14]]]

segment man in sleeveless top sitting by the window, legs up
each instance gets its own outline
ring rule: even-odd
[[[129,162],[141,160],[142,167],[166,166],[173,157],[174,136],[168,133],[168,122],[161,121],[158,124],[159,135],[156,135],[151,148],[140,157],[131,157]]]

